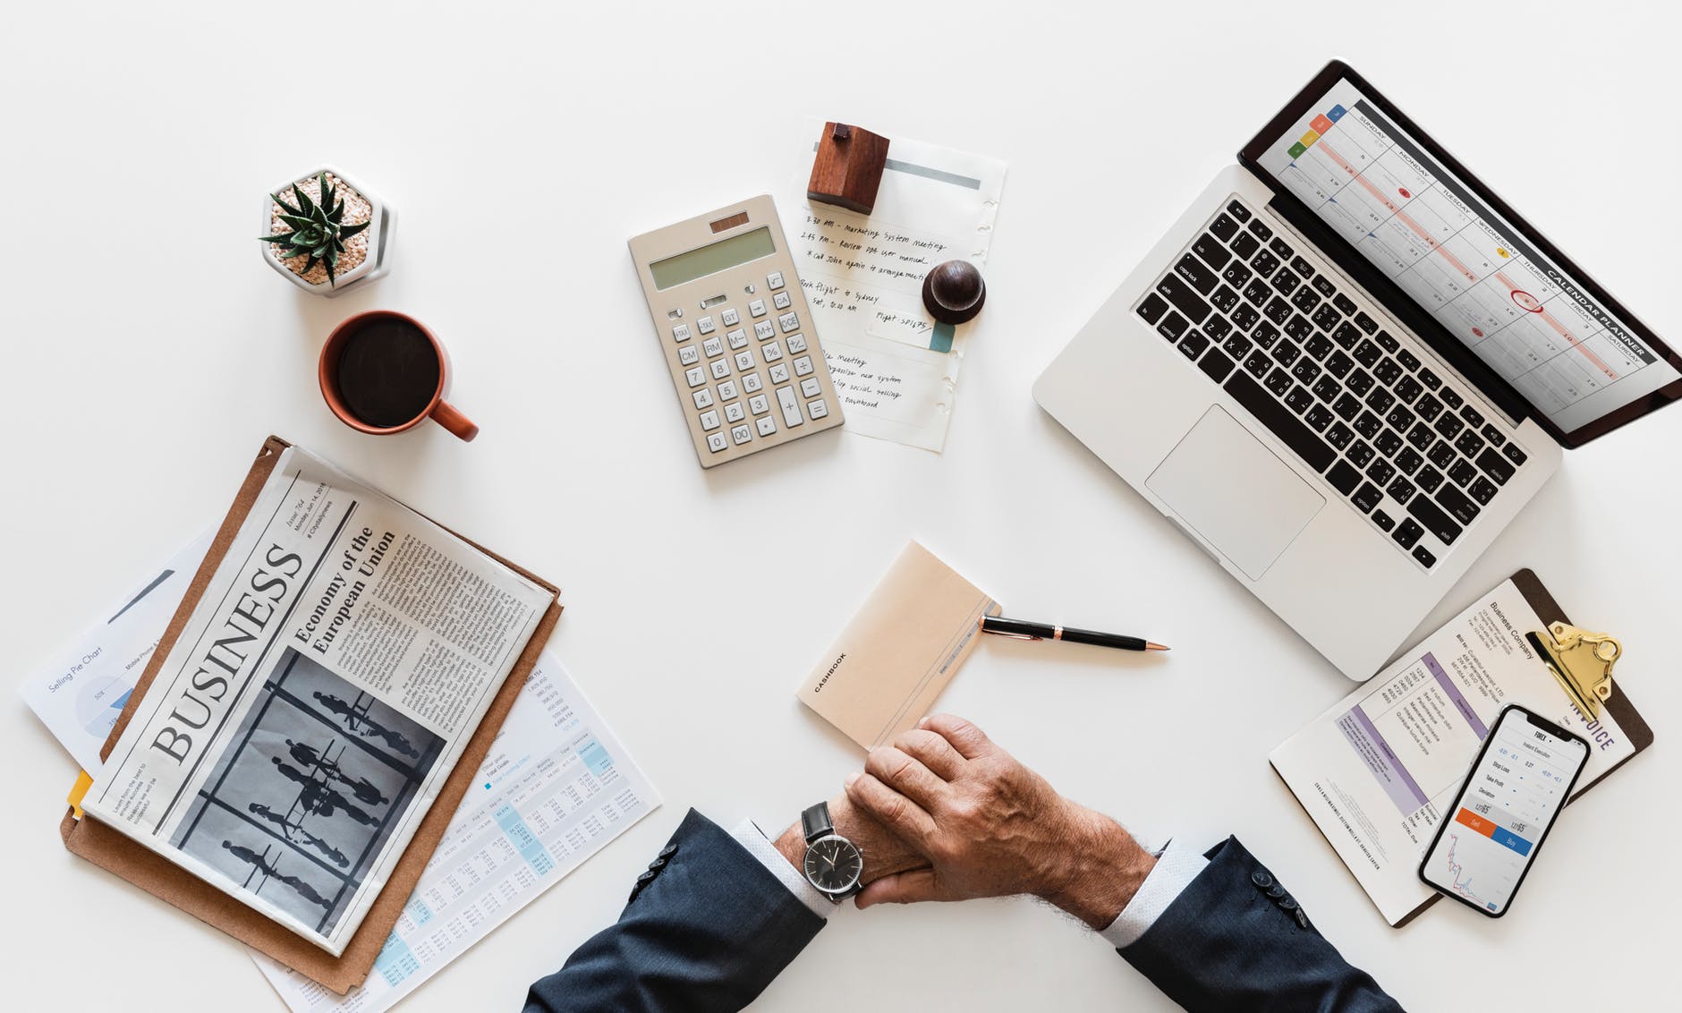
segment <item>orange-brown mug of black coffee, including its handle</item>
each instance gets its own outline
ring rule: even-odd
[[[461,439],[479,434],[444,400],[444,345],[407,313],[368,310],[335,326],[321,347],[320,377],[326,406],[358,432],[390,436],[432,419]]]

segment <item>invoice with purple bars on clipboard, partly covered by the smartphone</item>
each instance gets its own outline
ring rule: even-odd
[[[1524,639],[1542,629],[1505,581],[1268,757],[1391,925],[1436,895],[1420,860],[1502,707],[1589,742],[1578,794],[1640,747],[1610,707],[1576,710]]]

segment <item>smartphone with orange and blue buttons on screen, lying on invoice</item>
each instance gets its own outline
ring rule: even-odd
[[[1492,919],[1507,914],[1584,764],[1579,735],[1507,705],[1438,823],[1420,878]]]

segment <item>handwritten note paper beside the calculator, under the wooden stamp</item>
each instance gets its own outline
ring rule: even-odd
[[[860,215],[806,199],[811,160],[807,141],[784,225],[846,427],[939,453],[981,321],[935,323],[923,310],[923,276],[942,261],[986,263],[1004,163],[893,140],[876,207]]]

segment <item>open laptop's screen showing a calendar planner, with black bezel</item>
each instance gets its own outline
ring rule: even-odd
[[[1655,395],[1682,379],[1669,348],[1351,77],[1322,74],[1245,148],[1251,168],[1359,251],[1556,436],[1586,439],[1675,397]],[[1610,419],[1620,409],[1626,417]]]

